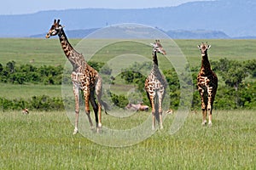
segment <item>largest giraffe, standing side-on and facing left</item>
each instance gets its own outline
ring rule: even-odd
[[[84,105],[85,113],[88,116],[90,122],[90,128],[93,129],[93,123],[90,117],[90,104],[93,107],[96,119],[96,130],[99,131],[99,128],[102,127],[102,105],[105,109],[108,109],[108,105],[102,101],[102,77],[98,72],[90,67],[84,59],[82,54],[79,54],[72,45],[68,42],[67,36],[63,30],[64,26],[60,25],[60,20],[54,20],[54,24],[49,29],[49,32],[46,34],[46,38],[52,36],[59,36],[61,47],[64,51],[64,54],[67,56],[67,59],[73,65],[73,72],[71,74],[73,82],[73,94],[75,96],[75,127],[73,134],[79,132],[79,90],[84,93]],[[98,103],[96,103],[96,99]],[[107,112],[106,112],[107,113]]]

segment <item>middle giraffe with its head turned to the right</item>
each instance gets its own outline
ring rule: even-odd
[[[158,68],[157,53],[165,55],[166,51],[163,49],[159,40],[156,40],[154,43],[150,44],[151,46],[153,46],[153,68],[145,81],[145,90],[147,92],[150,105],[152,107],[152,130],[154,130],[156,111],[158,111],[159,113],[160,129],[163,128],[162,101],[165,96],[167,83]]]

